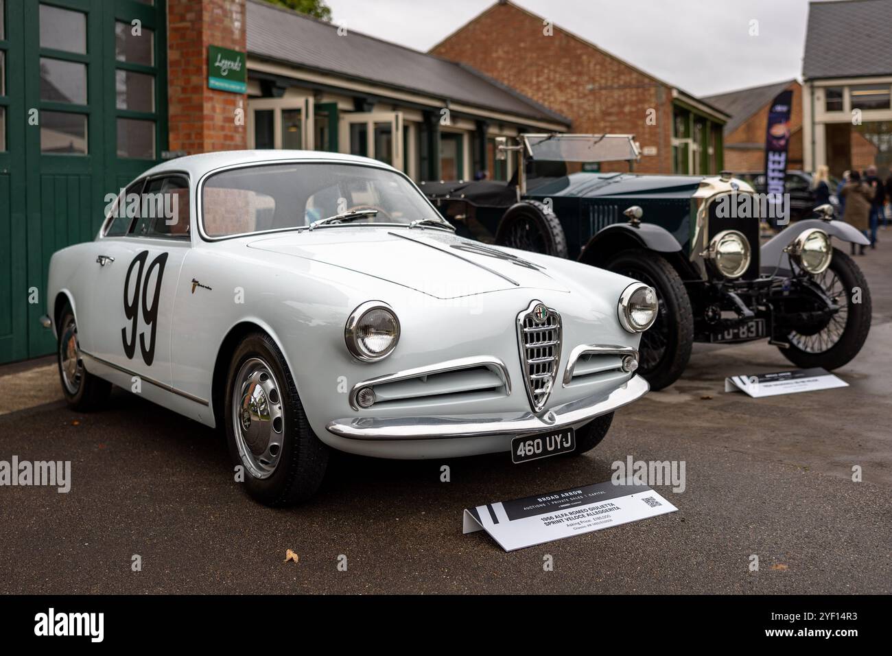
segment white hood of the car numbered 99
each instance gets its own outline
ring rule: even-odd
[[[248,247],[323,262],[442,299],[521,287],[570,291],[541,257],[533,263],[437,228],[317,228],[260,237]]]

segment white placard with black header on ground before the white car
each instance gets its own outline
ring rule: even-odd
[[[513,552],[677,510],[651,487],[606,481],[466,509],[462,533],[484,530]]]

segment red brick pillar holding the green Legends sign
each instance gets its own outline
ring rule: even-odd
[[[246,96],[208,88],[208,46],[244,52],[244,0],[168,0],[170,150],[247,147]]]

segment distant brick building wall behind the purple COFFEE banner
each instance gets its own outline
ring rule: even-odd
[[[791,82],[793,106],[789,116],[790,140],[788,150],[789,169],[802,168],[802,85]],[[759,108],[737,129],[724,137],[724,168],[732,171],[764,170],[765,129],[768,126],[768,104]],[[734,144],[758,144],[756,148],[736,149]]]

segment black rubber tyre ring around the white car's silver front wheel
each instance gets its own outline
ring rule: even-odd
[[[252,476],[239,455],[235,441],[235,377],[244,363],[252,359],[259,359],[268,365],[269,372],[279,386],[277,397],[285,411],[281,453],[274,471],[266,478]],[[229,454],[235,466],[241,465],[244,468],[243,485],[254,499],[268,506],[281,507],[307,501],[316,494],[325,477],[328,447],[310,428],[294,379],[285,364],[285,357],[276,342],[266,333],[256,332],[246,336],[233,354],[227,373],[223,425]]]

